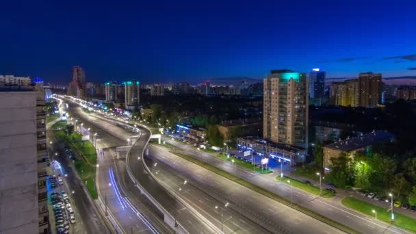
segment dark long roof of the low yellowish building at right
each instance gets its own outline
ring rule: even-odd
[[[371,146],[378,142],[388,142],[393,139],[394,135],[388,131],[372,131],[355,138],[347,138],[346,140],[340,140],[333,144],[328,144],[326,148],[333,148],[339,151],[354,151],[357,148],[363,148],[365,146]]]

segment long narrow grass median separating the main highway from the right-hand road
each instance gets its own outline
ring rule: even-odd
[[[207,164],[203,161],[200,161],[198,159],[195,159],[194,157],[190,157],[187,155],[183,155],[181,153],[175,153],[173,151],[170,151],[170,153],[173,153],[174,155],[177,155],[179,157],[182,157],[183,159],[186,159],[187,161],[191,161],[194,164],[197,164],[198,166],[202,166],[203,168],[210,170],[211,172],[214,172],[216,174],[220,174],[222,177],[225,177],[226,179],[229,179],[231,181],[234,181],[235,183],[239,183],[240,185],[243,185],[245,187],[248,187],[250,190],[254,190],[255,192],[258,192],[259,194],[263,194],[264,196],[268,196],[269,198],[272,198],[273,200],[276,200],[280,203],[283,203],[289,207],[292,207],[293,209],[296,209],[302,213],[307,214],[308,216],[311,216],[312,218],[315,218],[317,220],[320,220],[321,222],[324,222],[330,226],[334,226],[335,228],[344,231],[346,233],[359,233],[355,231],[354,229],[351,229],[348,226],[345,226],[343,224],[340,224],[339,222],[335,222],[334,220],[331,220],[329,218],[326,218],[325,216],[320,215],[319,213],[316,213],[315,211],[311,211],[310,209],[307,209],[306,207],[302,207],[298,204],[291,205],[290,200],[283,198],[282,196],[278,196],[277,194],[274,194],[268,190],[263,189],[263,187],[259,187],[257,185],[254,185],[244,179],[240,179],[236,177],[233,174],[230,174],[229,172],[226,172],[224,170],[220,170],[219,168],[216,168],[215,166],[211,166],[210,164]]]

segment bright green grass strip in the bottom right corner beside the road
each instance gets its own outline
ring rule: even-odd
[[[378,207],[350,196],[343,198],[341,203],[346,207],[350,207],[356,211],[360,211],[361,213],[365,213],[366,215],[373,216],[375,218],[375,214],[373,213],[374,210],[377,213],[378,220],[382,220],[387,223],[391,222],[391,213],[387,212],[386,208]],[[416,219],[404,216],[401,213],[394,213],[394,225],[416,233]]]

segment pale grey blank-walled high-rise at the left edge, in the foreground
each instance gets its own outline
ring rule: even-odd
[[[43,83],[0,88],[0,99],[0,233],[49,233]]]

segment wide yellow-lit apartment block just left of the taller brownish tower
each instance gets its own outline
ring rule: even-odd
[[[349,79],[343,82],[334,82],[329,86],[330,105],[344,107],[359,106],[359,81]]]

